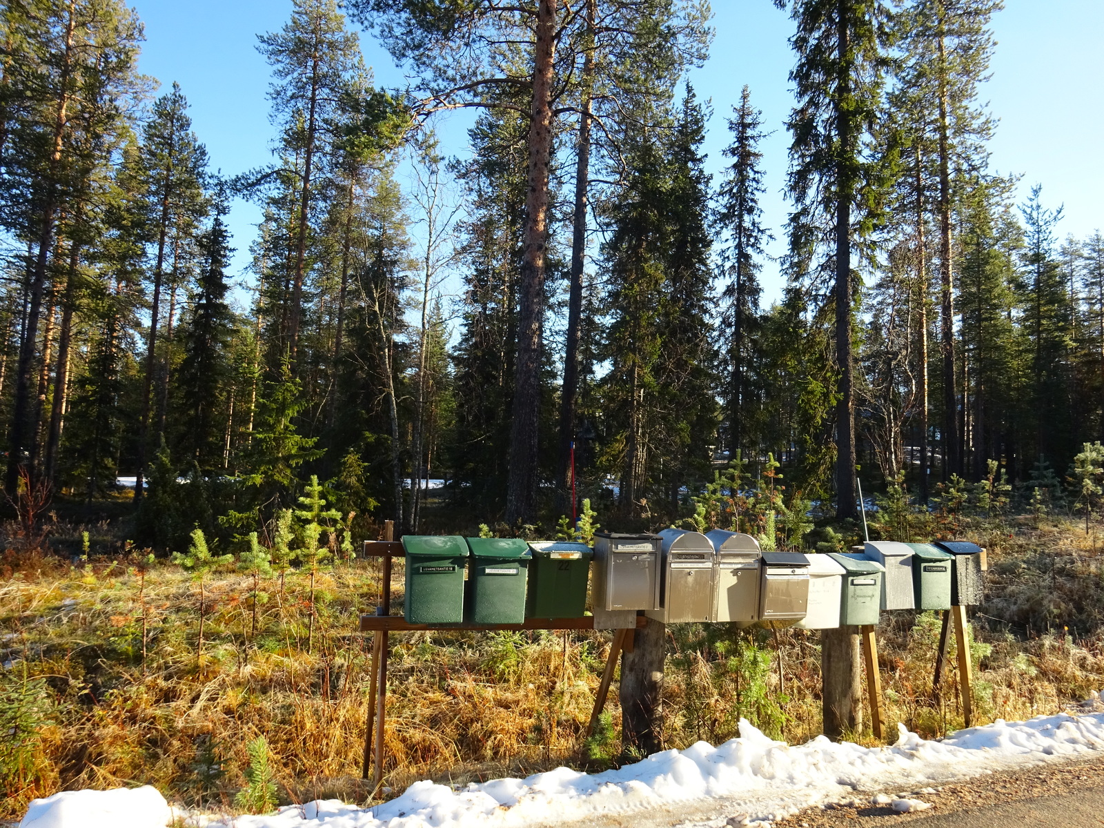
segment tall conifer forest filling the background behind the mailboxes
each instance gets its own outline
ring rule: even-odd
[[[4,6],[19,509],[89,517],[134,477],[127,540],[173,551],[197,526],[270,543],[312,475],[346,520],[402,532],[549,532],[583,498],[659,526],[719,473],[734,501],[785,480],[736,503],[751,531],[853,519],[857,465],[917,502],[969,481],[1092,505],[1104,240],[1062,238],[1061,206],[990,160],[999,3],[795,4],[794,108],[713,102],[718,176],[688,82],[704,3],[347,7],[302,0],[258,35],[270,159],[226,171],[185,91],[139,73],[135,12]],[[254,238],[231,236],[233,200]]]

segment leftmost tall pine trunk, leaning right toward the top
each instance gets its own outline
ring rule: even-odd
[[[19,469],[23,465],[23,449],[28,433],[28,408],[31,396],[31,371],[34,363],[35,346],[38,343],[39,316],[42,312],[42,296],[46,285],[46,263],[53,247],[54,221],[57,211],[57,177],[62,162],[65,127],[68,123],[70,77],[73,71],[73,34],[76,25],[76,0],[70,0],[65,23],[65,55],[62,60],[59,78],[56,112],[50,166],[45,177],[45,198],[43,199],[41,225],[39,227],[39,251],[34,262],[28,290],[26,325],[23,329],[23,341],[19,349],[19,363],[15,369],[15,399],[12,405],[11,432],[9,434],[8,470],[4,477],[4,489],[13,495],[19,481]],[[28,469],[34,477],[34,469]]]

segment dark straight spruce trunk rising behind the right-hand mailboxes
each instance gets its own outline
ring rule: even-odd
[[[836,124],[839,134],[839,160],[836,166],[836,362],[839,369],[839,402],[836,404],[836,514],[856,518],[854,502],[854,360],[851,352],[851,199],[854,180],[849,153],[854,151],[851,115],[845,108],[850,96],[848,75],[850,3],[839,0],[837,21],[838,60]]]

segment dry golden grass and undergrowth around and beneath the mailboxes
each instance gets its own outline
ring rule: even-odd
[[[901,535],[892,509],[879,519],[874,532]],[[1053,712],[1104,687],[1095,527],[1086,534],[1079,518],[1032,514],[955,520],[958,537],[989,551],[986,603],[970,611],[977,719]],[[850,531],[809,539],[843,545]],[[608,633],[411,633],[391,637],[386,787],[371,790],[360,779],[371,645],[358,619],[378,603],[380,567],[342,558],[280,573],[251,560],[235,571],[224,560],[199,577],[194,562],[153,562],[135,550],[73,563],[7,553],[0,817],[66,788],[148,783],[189,807],[235,811],[325,796],[368,800],[426,776],[459,785],[617,761],[616,691],[584,737]],[[401,606],[396,567],[392,601]],[[938,631],[934,613],[883,615],[891,726],[925,736],[962,726],[953,664],[932,700]],[[820,732],[818,634],[677,625],[668,647],[667,746],[722,742],[739,734],[741,719],[789,742]],[[873,743],[869,725],[853,735]]]

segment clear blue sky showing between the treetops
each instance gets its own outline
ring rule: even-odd
[[[225,174],[269,161],[273,127],[268,120],[268,66],[255,49],[256,35],[284,24],[289,0],[132,0],[146,24],[141,71],[163,87],[180,83],[191,103],[192,124],[206,144],[212,167]],[[724,119],[744,84],[774,130],[763,146],[766,185],[765,223],[783,252],[786,203],[781,190],[788,137],[783,126],[793,97],[787,79],[793,53],[792,23],[769,0],[713,0],[716,38],[709,62],[690,77],[698,95],[711,99],[713,118],[705,151],[709,168],[722,166]],[[1023,176],[1027,189],[1040,182],[1049,206],[1065,205],[1061,236],[1084,236],[1104,226],[1101,193],[1104,163],[1104,2],[1101,0],[1006,0],[994,20],[998,46],[992,79],[983,98],[999,119],[990,145],[992,167]],[[402,74],[370,38],[362,42],[376,83],[402,85]],[[444,149],[466,150],[469,115],[450,115],[439,125]],[[235,204],[235,275],[246,266],[246,251],[258,221],[255,208]],[[763,274],[769,301],[781,294],[777,268]]]

